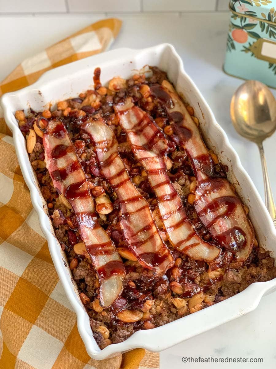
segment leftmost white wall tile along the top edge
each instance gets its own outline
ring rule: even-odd
[[[65,11],[65,0],[0,0],[0,13],[59,13]]]

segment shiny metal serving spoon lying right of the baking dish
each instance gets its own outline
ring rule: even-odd
[[[265,185],[265,205],[276,227],[276,208],[270,187],[263,140],[276,130],[276,101],[269,88],[261,82],[249,80],[234,93],[230,115],[236,131],[258,145]]]

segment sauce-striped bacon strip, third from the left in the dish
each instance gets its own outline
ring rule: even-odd
[[[210,262],[220,249],[204,242],[187,218],[181,199],[167,174],[164,160],[167,140],[148,114],[128,100],[116,106],[121,126],[142,164],[156,194],[160,214],[171,245],[196,260]]]

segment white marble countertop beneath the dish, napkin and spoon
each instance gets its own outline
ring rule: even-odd
[[[113,16],[113,14],[107,14]],[[2,15],[0,44],[2,49],[0,80],[25,57],[84,28],[105,14]],[[230,99],[240,79],[223,73],[228,13],[182,14],[116,14],[123,20],[121,32],[112,48],[144,48],[162,42],[173,44],[184,61],[199,90],[209,103],[219,124],[237,150],[241,162],[263,197],[261,163],[257,147],[239,137],[231,125]],[[272,90],[276,96],[276,91]],[[272,190],[276,197],[276,136],[265,141]],[[167,368],[275,368],[276,293],[263,297],[258,308],[244,317],[191,338],[160,354],[161,369]],[[164,339],[166,339],[164,337]],[[194,358],[245,357],[263,358],[256,363],[189,363],[183,356]]]

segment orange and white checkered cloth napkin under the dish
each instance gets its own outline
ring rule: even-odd
[[[0,94],[35,82],[46,70],[106,50],[120,27],[121,21],[117,19],[99,21],[26,59],[0,84]],[[88,356],[3,118],[0,118],[0,355],[1,369],[159,368],[159,355],[144,349],[103,361]]]

